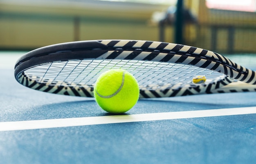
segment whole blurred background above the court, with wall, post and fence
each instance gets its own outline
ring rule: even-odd
[[[0,0],[0,50],[102,39],[255,53],[256,0]]]

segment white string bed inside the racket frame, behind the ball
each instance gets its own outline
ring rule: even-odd
[[[24,73],[31,80],[47,85],[94,86],[99,75],[109,69],[125,69],[137,79],[143,89],[191,87],[197,75],[207,77],[204,84],[223,79],[222,73],[184,64],[141,60],[70,60],[38,65]]]

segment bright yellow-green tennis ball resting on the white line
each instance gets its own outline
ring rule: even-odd
[[[102,73],[94,86],[94,98],[109,113],[125,113],[139,99],[139,85],[129,72],[110,69]]]

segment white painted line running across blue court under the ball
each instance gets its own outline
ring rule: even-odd
[[[155,120],[172,120],[182,118],[213,117],[226,115],[244,115],[256,113],[256,106],[228,109],[209,109],[199,111],[179,111],[165,113],[146,113],[135,115],[110,115],[98,117],[78,117],[52,120],[30,120],[16,122],[0,122],[0,131],[16,131],[29,129],[58,128],[68,126],[85,126],[97,124],[114,124],[124,122],[142,122]]]

